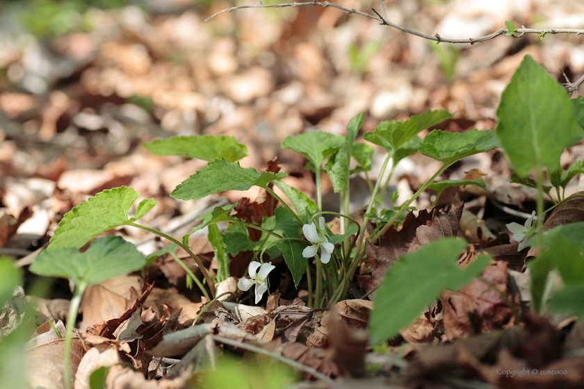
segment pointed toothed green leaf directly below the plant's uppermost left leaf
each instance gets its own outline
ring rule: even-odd
[[[224,190],[248,190],[253,185],[265,188],[270,181],[285,176],[286,173],[259,174],[253,167],[244,169],[238,162],[228,163],[225,159],[216,159],[180,183],[170,196],[175,199],[192,200]]]

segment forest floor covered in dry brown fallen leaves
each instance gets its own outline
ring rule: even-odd
[[[379,7],[368,1],[338,4],[365,13]],[[50,20],[44,35],[35,35],[26,30],[30,24],[9,22],[19,20],[18,15],[35,17],[33,10],[19,2],[0,4],[0,255],[15,258],[27,293],[38,284],[27,267],[49,245],[63,215],[98,192],[124,185],[140,192],[140,199],[156,199],[157,206],[141,222],[173,236],[188,233],[200,223],[197,217],[216,206],[241,203],[243,197],[261,202],[265,196],[252,187],[199,200],[173,199],[170,192],[206,161],[154,156],[143,142],[175,135],[232,135],[248,148],[242,167],[265,171],[277,158],[288,174],[283,181],[314,198],[314,173],[305,167],[307,160],[280,148],[288,136],[316,129],[346,135],[349,120],[364,112],[357,137],[364,142],[363,133],[380,122],[402,121],[430,109],[453,113],[430,130],[492,130],[501,93],[524,56],[532,56],[560,83],[565,82],[560,69],[571,81],[584,73],[580,35],[546,35],[543,40],[502,35],[472,45],[435,44],[321,6],[236,10],[205,22],[232,5],[172,0],[83,8],[71,11],[79,26],[68,31],[51,29],[60,25],[58,12],[39,14]],[[584,26],[584,5],[578,1],[406,0],[385,8],[387,18],[400,26],[447,38],[487,35],[507,20],[533,28]],[[368,202],[368,179],[378,179],[385,153],[382,147],[375,149],[371,170],[352,177],[350,212],[357,218]],[[581,142],[565,151],[561,162],[569,166],[582,159]],[[440,165],[419,154],[405,158],[388,192],[396,191],[398,204],[403,202]],[[457,215],[464,221],[459,220],[454,235],[465,238],[473,250],[492,255],[494,262],[483,276],[503,297],[473,281],[459,292],[445,292],[450,295],[442,295],[400,336],[372,348],[364,333],[374,298],[364,297],[366,287],[352,283],[347,299],[336,304],[341,320],[327,321],[329,314],[306,306],[307,280],[295,288],[280,258],[273,261],[278,274],[270,278],[272,295],[259,304],[252,304],[248,293],[239,296],[238,304],[229,297],[231,311],[217,303],[200,315],[197,325],[207,327],[198,338],[183,333],[186,338],[167,339],[189,328],[209,301],[197,288],[187,288],[186,272],[165,254],[145,272],[86,290],[76,325],[83,347],[75,354],[75,388],[89,388],[90,372],[111,365],[108,389],[581,388],[584,361],[567,352],[581,350],[582,322],[529,313],[529,249],[517,251],[505,224],[524,224],[535,210],[537,191],[510,183],[511,172],[499,149],[465,158],[440,178],[482,178],[487,189],[451,188],[437,201],[437,208],[446,212],[464,202],[464,213],[461,208]],[[339,197],[324,175],[322,188],[323,210],[337,211]],[[584,181],[574,180],[566,193],[581,190]],[[430,208],[434,197],[427,190],[412,205]],[[168,244],[127,226],[115,234],[145,255]],[[216,270],[206,229],[191,235],[189,245],[211,272]],[[187,266],[193,264],[184,251],[177,256]],[[250,257],[231,260],[230,274],[246,276]],[[367,276],[371,269],[363,265],[359,272]],[[58,279],[45,289],[44,299],[35,300],[37,324],[71,320],[69,283]],[[464,302],[451,311],[440,303],[454,300]],[[139,336],[134,332],[133,338],[120,340],[113,334],[96,335],[102,322],[115,323],[111,332],[119,335],[129,326],[120,317],[134,312],[140,313],[132,316],[139,320],[133,328]],[[17,315],[11,317],[0,317],[3,331],[17,320]],[[63,328],[62,323],[57,326]],[[47,324],[39,328],[37,333],[50,330]],[[159,349],[153,351],[155,347]],[[220,365],[216,354],[255,361],[257,349],[268,354],[259,365],[224,366],[236,381],[203,382],[209,365]],[[29,356],[38,367],[29,373],[31,385],[63,388],[62,359],[51,357],[52,349],[36,351]],[[308,369],[281,371],[267,362],[273,356]],[[519,374],[526,371],[534,373]],[[567,371],[569,378],[546,373],[550,371]],[[277,383],[270,381],[274,379]]]

